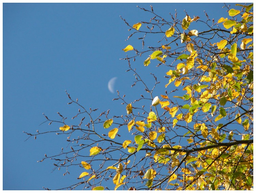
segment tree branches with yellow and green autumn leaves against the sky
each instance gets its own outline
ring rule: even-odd
[[[207,13],[206,20],[187,13],[179,19],[177,12],[165,19],[152,6],[139,7],[152,15],[149,21],[130,24],[121,17],[131,31],[127,40],[138,36],[142,43],[143,49],[132,42],[123,48],[127,55],[122,59],[140,97],[127,101],[118,92],[113,100],[121,101],[123,114],[110,117],[109,110],[85,107],[66,92],[68,104],[78,108],[70,117],[77,125],[60,113],[62,121],[45,115],[49,125],[59,125],[54,133],[67,135],[71,149],[41,161],[54,160],[56,168],[66,168],[64,175],[81,168],[78,182],[63,189],[251,190],[252,7],[226,5],[229,17],[218,20]],[[159,38],[157,46],[145,46],[149,35]],[[150,68],[153,85],[142,78],[138,65]],[[155,69],[165,82],[158,81]],[[156,87],[166,91],[155,93]]]

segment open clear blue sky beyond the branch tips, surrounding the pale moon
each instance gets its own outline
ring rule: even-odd
[[[184,9],[202,19],[205,10],[215,21],[228,15],[223,3],[151,4],[164,18],[175,9],[181,19]],[[65,139],[46,134],[25,142],[22,131],[50,130],[47,124],[40,125],[45,121],[42,113],[52,119],[59,119],[57,112],[74,115],[77,108],[67,106],[65,90],[86,107],[125,114],[120,102],[112,101],[117,95],[109,92],[107,83],[117,77],[115,90],[125,93],[127,101],[140,94],[137,87],[131,88],[134,77],[125,73],[127,62],[119,60],[129,54],[122,51],[128,44],[141,50],[136,38],[125,42],[131,32],[119,17],[131,25],[148,21],[151,15],[136,5],[150,9],[148,3],[3,4],[3,190],[58,189],[78,182],[80,168],[63,176],[63,170],[52,172],[51,160],[37,163],[44,154],[58,154]],[[151,41],[156,44],[151,37],[145,42]],[[136,60],[138,70],[145,70],[144,60]],[[146,76],[149,72],[150,68],[145,70],[146,80],[152,78]]]

